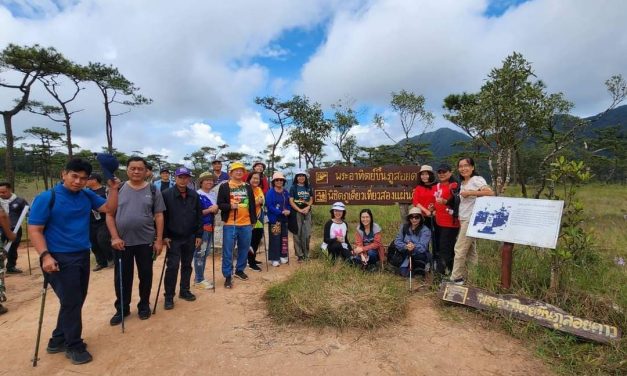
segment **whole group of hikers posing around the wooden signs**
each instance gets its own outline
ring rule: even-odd
[[[126,166],[128,179],[122,183],[113,177],[112,168],[100,162],[107,189],[102,185],[103,177],[92,173],[88,162],[73,159],[65,166],[61,182],[36,197],[28,220],[29,237],[39,254],[44,279],[61,303],[48,353],[65,352],[74,364],[92,360],[81,338],[90,250],[97,262],[94,270],[115,266],[116,299],[111,325],[122,323],[130,314],[135,266],[139,279],[137,313],[142,320],[150,318],[153,263],[164,246],[166,310],[174,308],[177,279],[179,299],[196,299],[191,291],[192,271],[195,288],[215,289],[215,279],[208,281],[204,273],[207,257],[215,251],[216,235],[222,238],[221,271],[226,289],[233,287],[234,278],[249,279],[247,266],[261,271],[256,257],[262,241],[273,267],[289,262],[289,231],[294,234],[297,261],[306,261],[310,256],[313,192],[304,171],[294,175],[287,189],[281,172],[268,180],[262,162],[254,163],[251,171],[233,162],[226,173],[221,161],[216,160],[212,171],[198,176],[195,189],[192,172],[186,167],[177,168],[173,180],[170,171],[162,169],[160,179],[153,183],[146,161],[131,157]],[[435,246],[431,248],[437,270],[452,272],[451,279],[456,283],[463,283],[466,259],[476,258],[465,229],[474,198],[492,191],[476,174],[471,158],[460,159],[457,168],[462,179],[459,183],[446,164],[436,170],[437,179],[430,166],[421,168],[413,206],[390,245],[405,252],[398,265],[402,275],[420,265],[424,270],[430,263],[433,234]],[[2,187],[0,184],[0,198]],[[0,209],[3,234],[13,240],[18,234],[8,217],[6,210]],[[330,217],[324,225],[322,244],[330,258],[368,268],[385,257],[382,229],[370,209],[360,211],[352,244],[346,206],[334,203]]]

